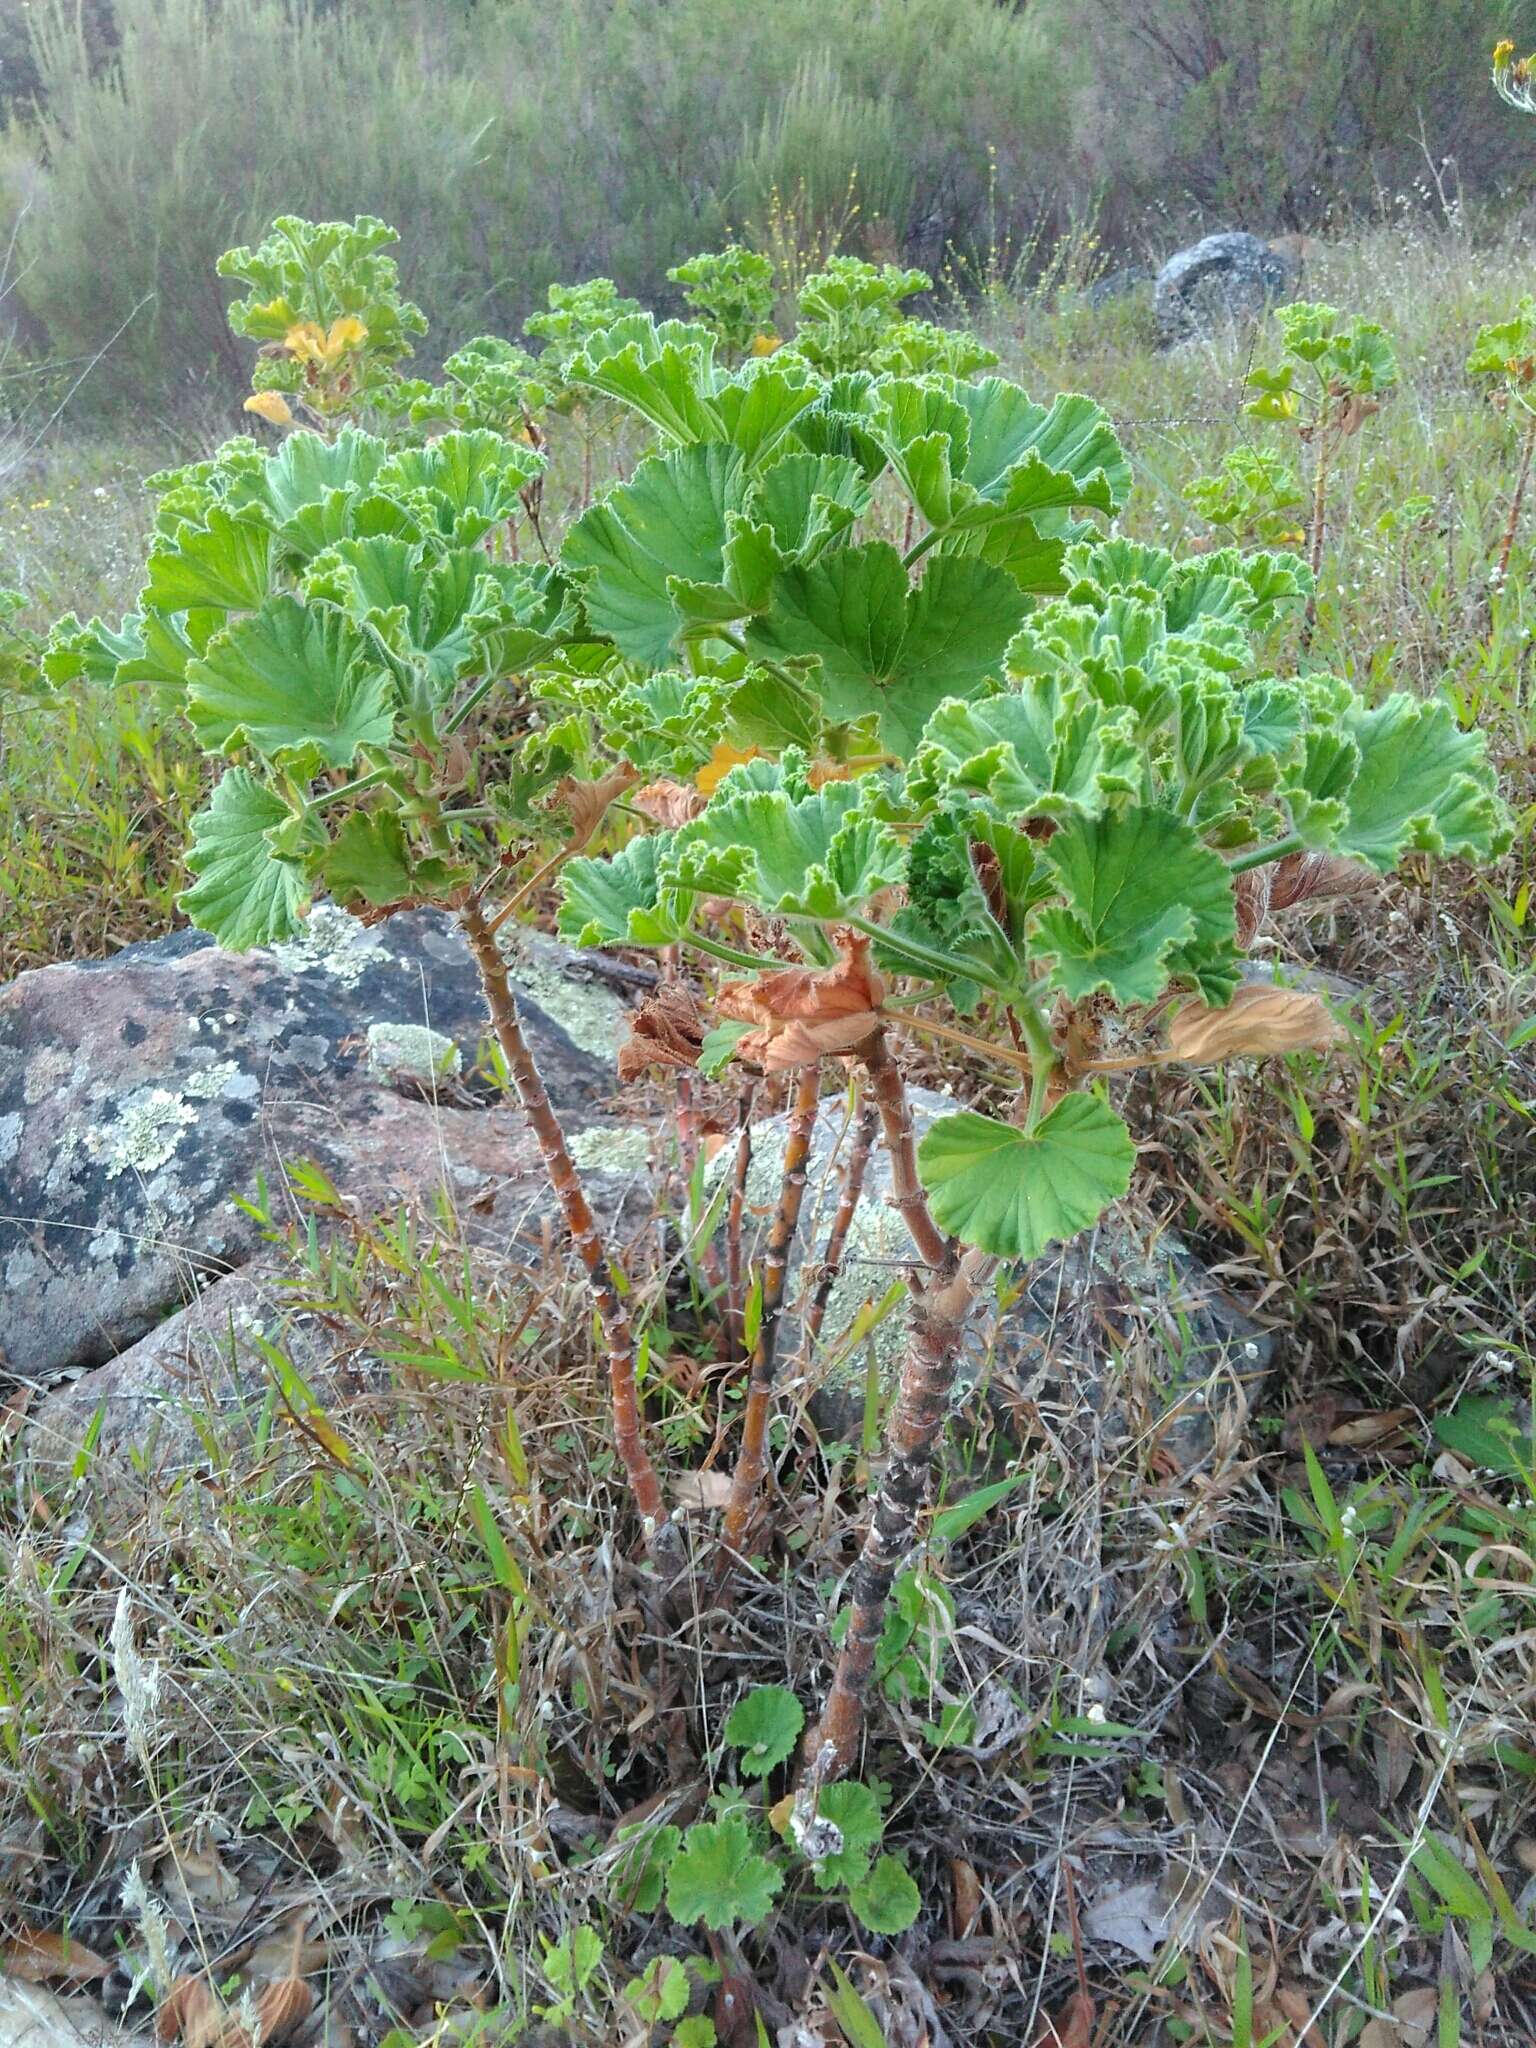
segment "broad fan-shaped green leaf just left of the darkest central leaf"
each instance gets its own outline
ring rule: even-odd
[[[641,463],[590,506],[561,545],[561,563],[586,571],[594,627],[623,653],[666,668],[682,616],[672,584],[719,586],[727,514],[748,506],[750,479],[723,442]]]

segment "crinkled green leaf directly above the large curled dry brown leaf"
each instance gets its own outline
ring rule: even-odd
[[[793,797],[786,788],[743,788],[737,774],[674,834],[664,872],[680,889],[735,897],[780,918],[834,920],[903,881],[905,850],[868,813],[860,782]]]

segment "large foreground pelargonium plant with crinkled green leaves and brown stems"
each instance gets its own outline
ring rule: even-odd
[[[541,467],[522,438],[236,440],[158,479],[139,608],[117,629],[66,623],[49,674],[150,678],[225,760],[182,897],[221,944],[291,936],[322,891],[367,918],[457,918],[592,1282],[616,1448],[674,1597],[686,1559],[645,1442],[629,1288],[500,934],[559,874],[569,938],[676,967],[631,1065],[797,1075],[727,1575],[766,1532],[776,1309],[819,1077],[854,1071],[911,1233],[909,1315],[807,1741],[813,1790],[858,1747],[973,1307],[1130,1184],[1108,1077],[1327,1042],[1315,997],[1243,979],[1262,915],[1409,852],[1487,860],[1507,819],[1446,700],[1372,705],[1337,676],[1264,670],[1255,647],[1307,600],[1303,563],[1106,537],[1094,518],[1114,518],[1130,469],[1085,397],[823,375],[791,350],[725,367],[707,328],[639,313],[588,334],[565,375],[655,453],[551,563],[512,559]],[[604,848],[616,801],[647,829]],[[909,1034],[995,1067],[1008,1110],[958,1108],[918,1143]]]

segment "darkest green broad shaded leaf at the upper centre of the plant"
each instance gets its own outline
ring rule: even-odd
[[[983,561],[936,559],[913,590],[901,555],[872,541],[786,569],[772,606],[745,631],[754,653],[819,657],[827,717],[877,715],[881,737],[905,758],[946,696],[977,696],[1001,676],[1026,604]]]

